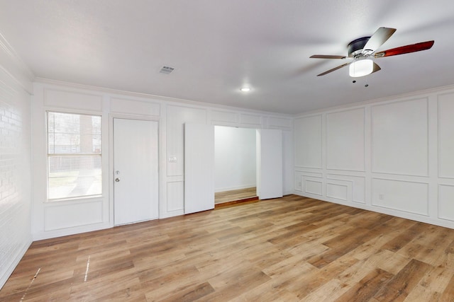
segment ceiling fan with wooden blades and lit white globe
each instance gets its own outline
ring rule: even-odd
[[[416,44],[405,45],[401,47],[392,48],[390,50],[383,50],[376,52],[377,48],[383,45],[389,37],[394,34],[396,28],[378,28],[375,33],[370,37],[360,37],[352,42],[348,43],[348,57],[337,56],[337,55],[326,55],[326,54],[314,54],[311,58],[315,59],[353,59],[352,62],[342,64],[340,66],[329,69],[317,76],[324,76],[335,70],[341,69],[344,66],[350,65],[350,76],[359,77],[367,76],[375,71],[380,70],[372,58],[390,57],[397,54],[408,54],[410,52],[419,52],[421,50],[428,50],[433,46],[435,41],[419,42]]]

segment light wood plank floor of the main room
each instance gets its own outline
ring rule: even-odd
[[[33,243],[1,301],[454,301],[454,230],[290,195]]]

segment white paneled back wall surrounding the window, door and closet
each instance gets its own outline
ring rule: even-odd
[[[293,192],[292,117],[267,112],[207,106],[153,95],[124,93],[70,83],[40,80],[34,84],[33,101],[33,216],[35,240],[93,231],[113,226],[113,146],[114,117],[141,117],[159,122],[160,218],[184,214],[185,122],[254,129],[282,129],[284,133],[284,190]],[[45,111],[80,112],[103,119],[103,196],[46,201]],[[255,163],[255,161],[254,161]],[[285,181],[287,180],[287,184]]]

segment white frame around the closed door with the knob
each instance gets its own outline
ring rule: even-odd
[[[150,117],[149,115],[124,115],[117,113],[109,114],[109,226],[114,227],[114,119],[124,119],[124,120],[145,120],[151,122],[157,122],[157,208],[159,216],[157,219],[162,217],[162,148],[164,144],[162,143],[162,134],[161,134],[161,119],[159,117]],[[105,212],[104,212],[105,213]]]

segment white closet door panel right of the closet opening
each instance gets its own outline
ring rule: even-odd
[[[282,131],[257,130],[257,195],[282,197]]]

